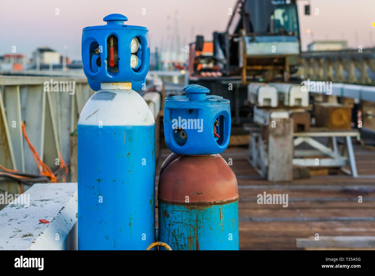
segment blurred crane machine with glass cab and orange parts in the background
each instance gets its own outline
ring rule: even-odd
[[[239,0],[230,15],[225,32],[214,32],[212,42],[197,36],[190,44],[189,77],[289,81],[301,53],[296,0]]]

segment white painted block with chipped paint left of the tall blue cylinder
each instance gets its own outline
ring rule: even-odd
[[[34,184],[0,211],[0,250],[77,250],[77,220],[77,183]]]

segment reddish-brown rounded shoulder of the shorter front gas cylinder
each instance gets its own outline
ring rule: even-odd
[[[236,175],[219,154],[184,155],[164,168],[159,178],[157,198],[182,205],[236,201]]]

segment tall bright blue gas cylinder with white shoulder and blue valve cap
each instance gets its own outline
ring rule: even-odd
[[[82,60],[96,92],[78,120],[78,248],[144,250],[155,238],[155,122],[140,90],[150,59],[148,29],[83,29]]]

